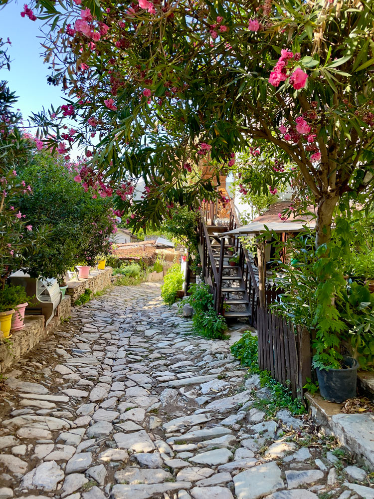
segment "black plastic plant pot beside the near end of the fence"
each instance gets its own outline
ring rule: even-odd
[[[344,357],[343,369],[318,369],[317,379],[322,397],[330,402],[341,403],[356,397],[357,368],[359,363],[352,357]]]

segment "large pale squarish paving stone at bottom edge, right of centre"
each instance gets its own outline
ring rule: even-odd
[[[233,479],[237,499],[257,499],[284,489],[281,475],[274,461],[238,473]]]

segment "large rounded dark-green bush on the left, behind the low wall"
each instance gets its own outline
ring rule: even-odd
[[[109,236],[115,230],[109,202],[85,192],[62,156],[38,152],[17,173],[19,181],[31,185],[32,195],[21,193],[13,204],[32,232],[49,229],[45,244],[26,255],[25,268],[32,277],[63,276],[77,260],[90,265],[97,254],[108,253]]]

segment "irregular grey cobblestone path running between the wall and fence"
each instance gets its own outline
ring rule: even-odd
[[[7,374],[0,499],[374,499],[307,418],[255,407],[268,390],[227,341],[190,330],[157,283],[75,309]]]

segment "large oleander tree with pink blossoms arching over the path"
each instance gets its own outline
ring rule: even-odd
[[[292,162],[318,207],[317,247],[342,198],[371,195],[372,2],[40,0],[21,15],[50,26],[49,81],[66,91],[34,116],[43,140],[84,146],[109,182],[143,177],[135,226],[209,189],[186,182],[201,160],[229,170],[248,148]]]

